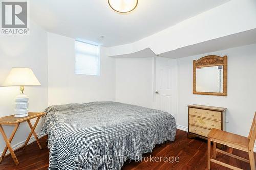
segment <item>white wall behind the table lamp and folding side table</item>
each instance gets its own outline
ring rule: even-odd
[[[41,83],[41,86],[25,87],[25,94],[29,97],[29,111],[42,112],[47,107],[47,33],[30,22],[30,35],[1,36],[0,38],[0,85],[4,82],[12,67],[29,67]],[[14,114],[15,97],[20,93],[19,87],[0,87],[0,117]],[[34,121],[32,124],[34,124]],[[40,131],[41,121],[36,128]],[[9,137],[13,127],[4,126]],[[26,140],[30,128],[22,123],[12,141],[12,145]],[[5,142],[0,137],[0,151]]]

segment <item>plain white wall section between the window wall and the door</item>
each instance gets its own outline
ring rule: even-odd
[[[116,101],[153,108],[153,58],[116,58]]]

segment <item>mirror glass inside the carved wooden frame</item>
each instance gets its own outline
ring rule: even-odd
[[[196,91],[223,93],[223,66],[197,67]]]

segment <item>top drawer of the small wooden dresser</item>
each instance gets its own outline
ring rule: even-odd
[[[221,112],[189,108],[189,114],[221,121]]]

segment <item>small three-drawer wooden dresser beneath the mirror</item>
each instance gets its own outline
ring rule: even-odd
[[[226,130],[226,108],[189,105],[188,106],[188,134],[189,138],[200,137],[207,140],[212,128]]]

